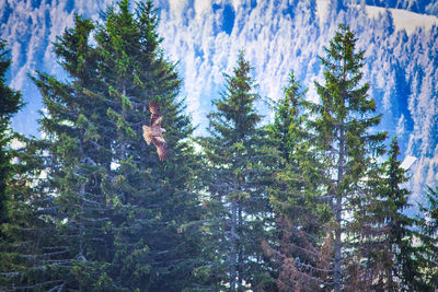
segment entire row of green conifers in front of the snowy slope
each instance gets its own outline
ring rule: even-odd
[[[376,130],[348,25],[320,56],[319,100],[291,71],[270,125],[237,52],[195,137],[158,10],[131,4],[57,37],[66,80],[30,73],[41,139],[10,127],[24,104],[0,43],[1,291],[437,291],[438,188],[405,212],[397,138]],[[142,137],[152,101],[164,161]]]

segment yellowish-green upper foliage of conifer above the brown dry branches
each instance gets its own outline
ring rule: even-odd
[[[312,220],[300,218],[302,212],[308,213],[308,210],[297,212],[296,209],[288,209],[307,208],[307,203],[314,201],[321,172],[316,154],[309,143],[311,136],[306,128],[308,120],[306,91],[300,92],[300,87],[293,72],[290,73],[289,84],[284,89],[285,97],[279,102],[274,124],[269,127],[270,141],[279,155],[276,165],[278,170],[276,180],[283,185],[279,187],[279,191],[273,189],[270,200],[275,211],[285,215],[288,221],[302,220],[300,224],[313,224],[315,222]],[[314,210],[315,206],[310,209]]]

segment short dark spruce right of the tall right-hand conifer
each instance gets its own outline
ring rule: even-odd
[[[361,201],[355,214],[354,225],[360,234],[358,254],[364,262],[364,275],[356,282],[362,281],[372,291],[425,291],[420,250],[414,243],[418,238],[415,220],[405,214],[411,192],[403,187],[408,177],[397,160],[396,138],[388,154],[380,171],[368,177],[369,199]]]

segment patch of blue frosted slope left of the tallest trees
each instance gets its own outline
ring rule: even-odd
[[[12,66],[10,85],[21,90],[26,108],[19,113],[13,126],[19,131],[37,135],[36,118],[42,103],[27,73],[43,70],[62,75],[51,51],[51,43],[73,24],[73,13],[99,17],[99,11],[114,1],[100,0],[1,0],[0,37],[10,44]]]

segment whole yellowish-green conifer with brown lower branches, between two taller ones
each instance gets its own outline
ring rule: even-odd
[[[276,179],[269,192],[279,238],[272,246],[265,245],[265,250],[277,261],[280,291],[319,291],[326,285],[330,270],[331,254],[322,248],[322,226],[330,215],[318,199],[321,170],[306,128],[306,90],[293,72],[284,92],[269,127],[273,147],[278,151]]]

